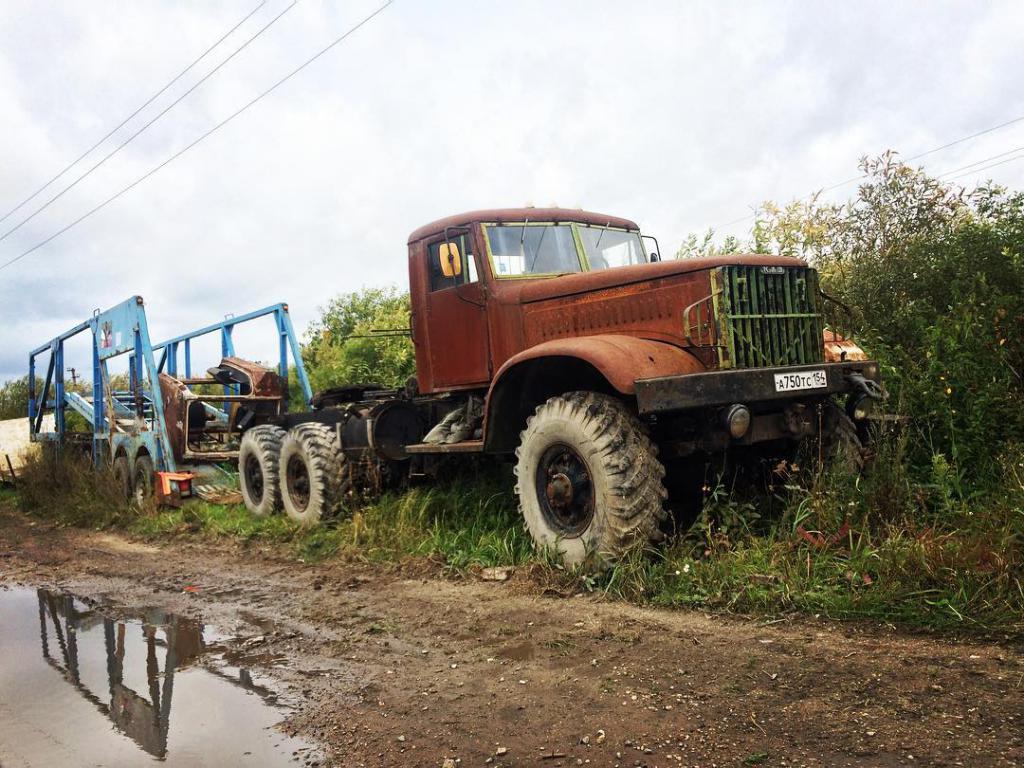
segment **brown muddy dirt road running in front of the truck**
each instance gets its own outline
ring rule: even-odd
[[[0,584],[229,629],[329,765],[1024,765],[1020,647],[412,572],[0,511]]]

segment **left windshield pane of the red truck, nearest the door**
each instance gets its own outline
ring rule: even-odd
[[[499,278],[580,271],[568,224],[492,224],[487,243]]]

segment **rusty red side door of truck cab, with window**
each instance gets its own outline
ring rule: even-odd
[[[435,387],[490,380],[487,312],[479,251],[466,230],[427,245],[427,349]]]

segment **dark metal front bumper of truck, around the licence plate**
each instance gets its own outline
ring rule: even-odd
[[[775,374],[824,371],[826,385],[816,389],[778,392]],[[816,366],[783,368],[746,368],[735,371],[709,371],[703,374],[663,376],[636,381],[637,406],[641,414],[662,414],[674,411],[728,406],[733,402],[751,404],[771,400],[798,400],[824,395],[861,391],[856,377],[879,382],[879,364],[874,360],[853,362],[821,362]]]

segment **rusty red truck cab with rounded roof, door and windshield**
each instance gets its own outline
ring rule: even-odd
[[[651,259],[636,223],[586,211],[474,211],[420,227],[409,239],[409,276],[421,390],[485,387],[530,345],[522,306],[530,284],[561,286]]]

